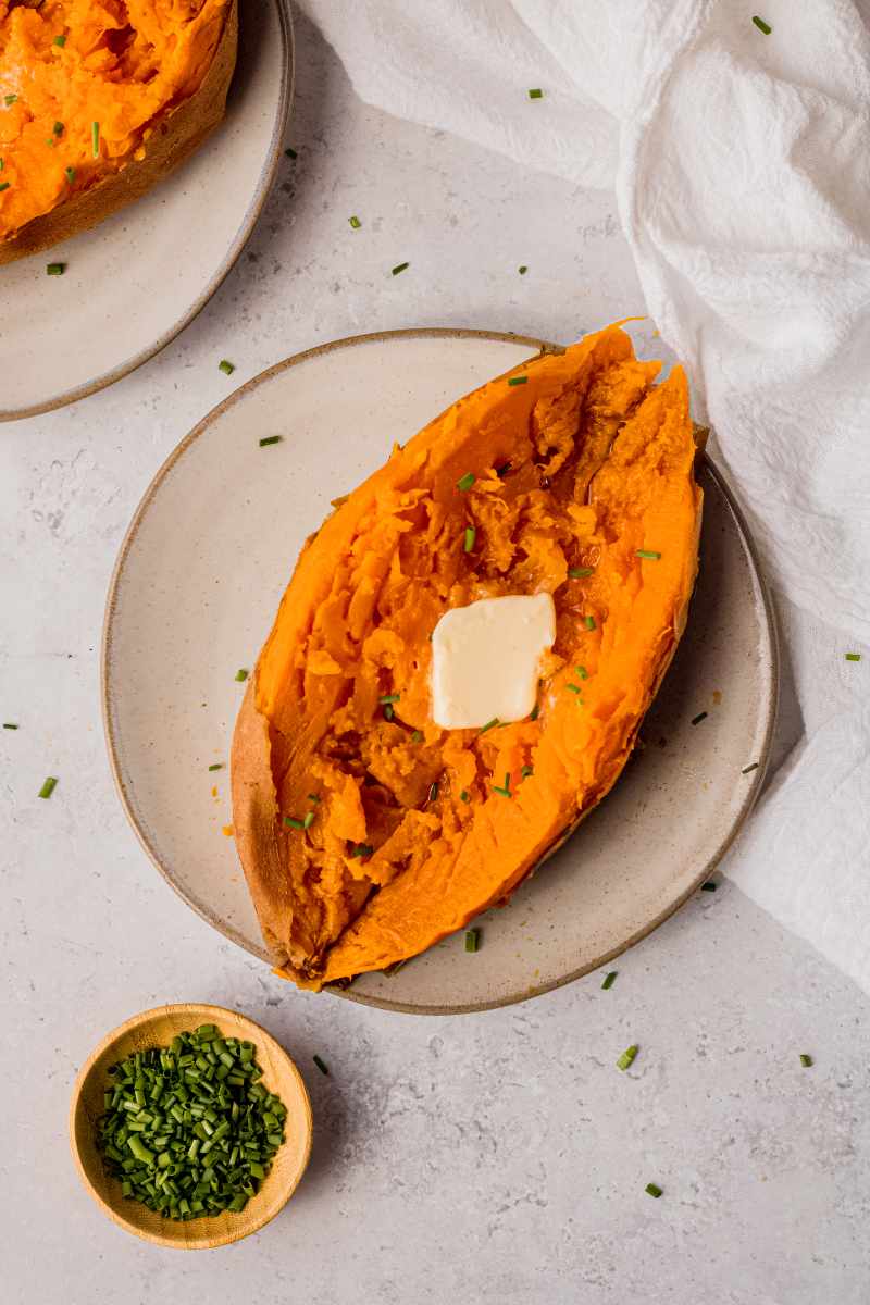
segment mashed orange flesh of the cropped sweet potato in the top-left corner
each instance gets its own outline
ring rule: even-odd
[[[0,0],[0,240],[142,157],[154,123],[200,89],[228,8]]]

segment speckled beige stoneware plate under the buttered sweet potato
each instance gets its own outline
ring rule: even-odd
[[[103,694],[121,800],[179,895],[254,955],[260,930],[231,837],[230,740],[296,555],[353,488],[459,395],[539,341],[480,331],[364,335],[279,363],[217,407],[164,463],[108,595]],[[260,448],[260,438],[283,441]],[[751,540],[710,461],[689,628],[614,791],[510,904],[393,977],[344,996],[397,1010],[480,1010],[567,983],[642,938],[710,874],[746,818],[776,709],[776,637]],[[707,716],[693,726],[702,711]],[[210,773],[209,766],[224,769]],[[749,770],[747,767],[755,766]],[[167,903],[168,908],[168,903]],[[279,981],[279,980],[275,980]]]

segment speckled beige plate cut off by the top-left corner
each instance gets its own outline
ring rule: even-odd
[[[93,231],[0,268],[0,422],[111,385],[205,308],[266,202],[292,85],[288,0],[244,0],[227,115],[202,149]]]

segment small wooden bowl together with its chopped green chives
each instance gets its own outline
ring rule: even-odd
[[[283,1208],[308,1164],[312,1109],[260,1024],[223,1006],[158,1006],[89,1056],[69,1141],[110,1219],[160,1246],[206,1250]]]

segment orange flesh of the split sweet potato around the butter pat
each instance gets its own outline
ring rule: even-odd
[[[523,384],[490,381],[397,448],[303,549],[232,754],[263,937],[300,985],[382,970],[460,929],[620,775],[698,561],[686,380],[674,368],[656,385],[659,371],[612,326],[518,368]],[[429,634],[441,615],[543,590],[557,638],[536,719],[438,728]],[[386,694],[399,694],[393,719]],[[511,797],[494,791],[506,774]],[[282,822],[307,812],[308,829]]]

